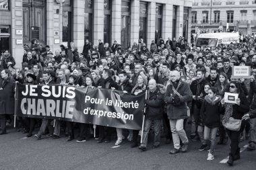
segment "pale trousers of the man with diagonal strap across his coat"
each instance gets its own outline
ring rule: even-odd
[[[172,140],[174,148],[179,149],[181,147],[180,138],[183,143],[188,143],[187,134],[183,128],[183,119],[172,120],[170,119],[170,130],[172,131]]]

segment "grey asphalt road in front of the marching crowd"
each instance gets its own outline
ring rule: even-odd
[[[216,159],[206,161],[207,151],[197,150],[198,141],[190,142],[188,153],[170,155],[172,144],[141,152],[130,148],[129,142],[112,148],[114,141],[97,144],[93,138],[77,143],[66,142],[65,137],[36,140],[24,136],[15,130],[0,136],[0,169],[256,169],[256,151],[243,151],[234,167],[220,163],[228,156],[228,145],[218,145]]]

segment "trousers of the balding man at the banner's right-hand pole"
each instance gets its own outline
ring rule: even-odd
[[[150,126],[154,122],[154,145],[158,146],[160,144],[160,139],[161,139],[161,122],[162,120],[150,120],[146,118],[145,123],[144,123],[144,130],[143,130],[143,136],[142,136],[142,142],[141,146],[147,146],[148,144],[148,132],[150,132]]]

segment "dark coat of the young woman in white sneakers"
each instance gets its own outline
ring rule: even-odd
[[[220,96],[216,96],[214,101],[207,95],[205,96],[199,116],[199,124],[201,126],[205,125],[208,128],[217,128],[220,126],[220,112],[222,112],[220,100]]]

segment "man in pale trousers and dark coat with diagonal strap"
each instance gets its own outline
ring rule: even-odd
[[[183,122],[187,118],[187,102],[191,101],[192,93],[189,89],[189,84],[181,81],[179,71],[172,71],[170,73],[170,85],[167,86],[164,95],[166,102],[167,115],[170,120],[170,130],[172,131],[172,140],[174,148],[170,154],[187,152],[189,140],[183,127]],[[180,138],[183,146],[180,144]]]

